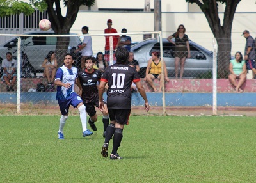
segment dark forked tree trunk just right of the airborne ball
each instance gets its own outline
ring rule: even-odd
[[[31,3],[40,10],[44,10],[46,3],[49,20],[54,33],[58,35],[68,35],[76,20],[79,7],[82,5],[93,6],[95,0],[63,0],[63,3],[67,7],[65,17],[61,14],[60,0],[31,0]],[[54,10],[54,5],[56,10]],[[67,52],[68,44],[69,37],[57,38],[56,56],[60,60],[63,59],[63,56]],[[62,64],[60,61],[58,63],[60,63],[60,65]]]

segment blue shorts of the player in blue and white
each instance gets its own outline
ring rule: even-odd
[[[58,100],[58,104],[60,106],[61,115],[67,115],[69,106],[73,106],[76,108],[78,104],[83,103],[83,100],[79,95],[76,94],[76,92],[73,92],[69,99],[67,100]]]

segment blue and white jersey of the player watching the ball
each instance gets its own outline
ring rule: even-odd
[[[75,80],[77,78],[77,68],[72,67],[68,69],[65,65],[58,68],[56,72],[55,80],[59,79],[62,83],[70,83],[72,87],[65,88],[63,86],[57,86],[56,99],[67,100],[70,98],[71,93],[74,92]]]

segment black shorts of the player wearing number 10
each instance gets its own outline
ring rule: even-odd
[[[109,118],[120,125],[128,125],[131,109],[108,109]]]

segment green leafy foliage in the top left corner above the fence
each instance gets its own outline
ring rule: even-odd
[[[15,15],[24,13],[25,15],[30,15],[34,12],[32,6],[23,1],[4,1],[0,0],[0,17]]]

